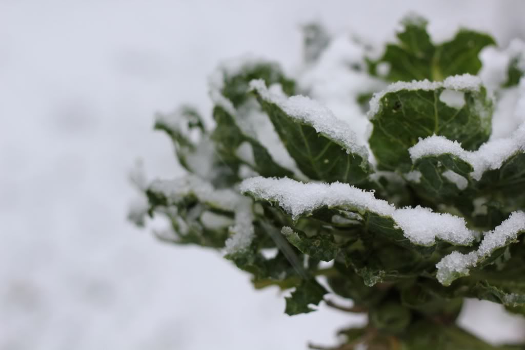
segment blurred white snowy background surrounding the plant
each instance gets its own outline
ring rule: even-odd
[[[286,316],[277,290],[254,291],[219,253],[130,225],[127,173],[140,157],[150,176],[180,174],[152,115],[181,102],[208,113],[218,60],[252,53],[293,71],[301,23],[382,41],[409,11],[437,39],[458,25],[502,45],[524,33],[520,1],[0,0],[0,349],[332,343],[355,319]],[[523,336],[498,306],[470,304],[461,322],[486,339]]]

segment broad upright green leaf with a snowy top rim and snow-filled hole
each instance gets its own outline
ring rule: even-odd
[[[398,83],[374,96],[371,103],[376,107],[370,113],[374,129],[369,142],[380,168],[411,171],[409,147],[430,135],[458,141],[466,150],[476,150],[488,140],[492,102],[485,88],[464,89],[454,81]],[[442,101],[442,93],[448,91],[459,98],[463,95],[462,107],[450,107]]]

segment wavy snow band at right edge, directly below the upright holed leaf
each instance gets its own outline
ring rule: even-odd
[[[432,135],[419,140],[408,149],[412,162],[425,156],[437,156],[450,153],[469,163],[474,168],[470,174],[479,180],[483,173],[489,169],[497,169],[510,156],[525,150],[525,123],[511,136],[490,140],[482,144],[477,151],[465,151],[457,141],[450,141],[444,136]]]

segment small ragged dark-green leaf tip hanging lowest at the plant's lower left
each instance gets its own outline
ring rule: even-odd
[[[309,305],[319,305],[326,293],[328,291],[315,279],[303,280],[291,296],[287,296],[285,313],[291,316],[315,311]]]

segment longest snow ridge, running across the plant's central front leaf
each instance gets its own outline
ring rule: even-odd
[[[289,178],[254,177],[244,180],[240,190],[255,198],[277,202],[294,220],[322,207],[340,207],[392,217],[405,237],[418,245],[432,245],[436,238],[469,245],[475,238],[463,218],[433,213],[419,206],[396,209],[385,200],[375,198],[372,192],[349,184],[304,184]]]

